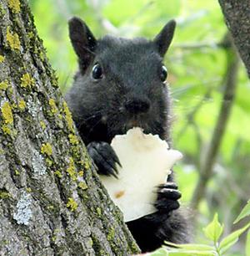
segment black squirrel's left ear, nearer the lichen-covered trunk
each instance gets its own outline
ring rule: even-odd
[[[68,21],[68,29],[69,38],[79,58],[79,63],[83,69],[87,69],[94,55],[93,51],[97,45],[97,40],[81,18],[71,18]]]

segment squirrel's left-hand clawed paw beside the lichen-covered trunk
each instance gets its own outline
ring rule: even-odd
[[[117,165],[121,163],[117,154],[107,142],[93,141],[87,145],[87,151],[97,166],[98,174],[113,176],[117,178]]]

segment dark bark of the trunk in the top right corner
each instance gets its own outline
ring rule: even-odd
[[[218,0],[250,77],[250,0]]]

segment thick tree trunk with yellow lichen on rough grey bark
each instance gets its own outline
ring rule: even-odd
[[[0,254],[128,255],[27,1],[0,0]]]

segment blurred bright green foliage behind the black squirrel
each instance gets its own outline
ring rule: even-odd
[[[183,192],[183,204],[189,205],[207,157],[208,145],[223,104],[223,89],[228,76],[228,50],[222,47],[228,33],[216,0],[30,0],[40,37],[47,48],[52,67],[57,70],[63,91],[72,84],[77,60],[67,37],[67,19],[79,16],[92,32],[122,37],[153,38],[175,18],[178,28],[165,63],[172,87],[174,147],[184,154],[176,166]],[[237,90],[233,109],[220,150],[213,166],[213,176],[198,203],[194,240],[203,243],[202,228],[215,212],[225,224],[225,235],[250,197],[250,84],[243,64],[236,71]],[[243,255],[243,243],[230,255]]]

